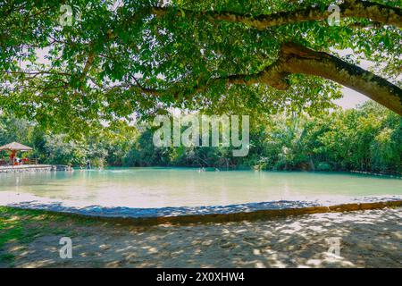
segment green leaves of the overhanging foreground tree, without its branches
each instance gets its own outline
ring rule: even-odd
[[[261,71],[289,40],[324,52],[347,51],[340,57],[352,63],[369,59],[389,79],[400,73],[402,34],[390,25],[366,29],[366,19],[344,19],[339,27],[303,21],[259,30],[206,16],[213,11],[251,17],[289,13],[312,4],[325,11],[330,0],[173,0],[162,17],[148,13],[159,1],[127,0],[113,10],[114,2],[72,1],[72,25],[64,27],[60,7],[69,1],[0,4],[1,109],[46,129],[78,134],[99,128],[100,122],[133,113],[148,118],[171,107],[215,114],[285,109],[316,114],[331,107],[339,85],[312,76],[290,76],[287,91],[264,84],[227,86],[224,80],[208,84]],[[161,92],[150,95],[144,88]]]

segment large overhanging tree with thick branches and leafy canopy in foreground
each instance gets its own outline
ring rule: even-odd
[[[0,108],[69,128],[169,107],[314,112],[342,85],[402,115],[400,0],[339,1],[334,26],[328,0],[114,2],[2,2]]]

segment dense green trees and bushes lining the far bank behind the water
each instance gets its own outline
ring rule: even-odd
[[[233,157],[230,147],[154,147],[153,127],[144,123],[114,122],[71,139],[7,114],[0,117],[0,144],[20,141],[35,148],[29,156],[48,164],[79,166],[89,158],[103,166],[402,173],[402,118],[373,102],[314,117],[274,115],[250,124],[245,157]]]

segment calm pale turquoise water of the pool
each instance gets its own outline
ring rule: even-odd
[[[402,180],[349,173],[198,172],[189,168],[0,174],[3,204],[6,199],[35,198],[69,206],[151,208],[278,200],[336,202],[372,196],[402,197]]]

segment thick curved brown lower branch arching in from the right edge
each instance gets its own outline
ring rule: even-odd
[[[263,83],[281,90],[289,88],[287,77],[289,74],[306,74],[322,77],[352,88],[366,97],[370,97],[381,105],[388,107],[395,113],[402,115],[402,89],[376,76],[370,71],[340,60],[339,58],[322,52],[316,52],[306,46],[295,43],[286,43],[281,47],[279,59],[255,74],[233,74],[226,77],[200,80],[190,88],[190,95],[204,91],[218,82],[227,84],[252,85]],[[176,86],[167,89],[152,89],[135,87],[146,94],[161,96],[178,94]],[[189,95],[187,95],[189,96]]]

